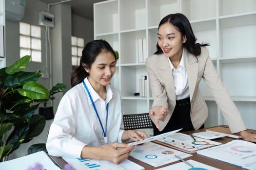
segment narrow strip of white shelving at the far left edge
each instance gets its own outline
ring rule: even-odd
[[[5,0],[0,0],[0,27],[2,27],[2,26],[3,26],[3,31],[5,31]],[[2,34],[2,33],[0,33],[0,34]],[[5,37],[4,34],[1,36]],[[1,43],[0,43],[0,46],[2,46]],[[2,47],[0,47],[0,48],[2,48]],[[0,68],[3,68],[3,67],[5,67],[5,58],[0,57]]]

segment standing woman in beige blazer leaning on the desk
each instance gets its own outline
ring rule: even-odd
[[[198,87],[203,79],[231,132],[239,132],[243,139],[256,142],[256,135],[246,131],[236,105],[218,77],[208,44],[196,40],[183,14],[170,14],[159,23],[157,51],[146,60],[154,99],[149,111],[155,124],[154,135],[179,128],[189,131],[204,127],[208,108]]]

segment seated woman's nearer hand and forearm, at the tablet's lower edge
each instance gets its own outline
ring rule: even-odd
[[[117,142],[100,147],[84,146],[81,158],[107,160],[118,164],[127,159],[134,148],[135,146]]]

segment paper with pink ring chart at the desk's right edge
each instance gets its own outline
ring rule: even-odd
[[[241,167],[256,164],[256,144],[239,139],[197,153]]]

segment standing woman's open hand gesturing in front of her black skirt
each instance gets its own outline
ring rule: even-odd
[[[159,128],[159,120],[163,121],[168,115],[168,109],[164,106],[155,106],[149,111],[149,115],[154,116],[155,125]]]

